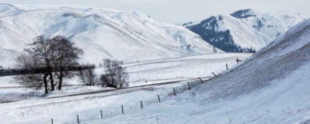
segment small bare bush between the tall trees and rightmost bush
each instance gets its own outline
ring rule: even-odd
[[[82,64],[82,67],[85,67],[86,69],[79,70],[78,71],[78,77],[86,86],[94,86],[96,75],[94,74],[94,64]]]

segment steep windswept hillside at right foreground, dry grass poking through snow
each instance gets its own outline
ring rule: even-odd
[[[307,20],[239,66],[189,92],[139,113],[90,123],[307,124],[309,39]]]

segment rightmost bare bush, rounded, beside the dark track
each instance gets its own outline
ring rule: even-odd
[[[126,68],[122,67],[123,62],[116,60],[104,60],[104,68],[107,71],[105,75],[101,75],[101,86],[123,88],[128,85],[128,73]]]

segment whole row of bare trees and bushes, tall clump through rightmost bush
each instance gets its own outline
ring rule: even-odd
[[[94,64],[79,65],[77,60],[83,50],[75,47],[64,36],[58,35],[53,38],[45,38],[43,35],[34,38],[17,59],[17,68],[23,70],[22,75],[15,79],[34,91],[44,90],[45,93],[62,89],[63,79],[77,75],[86,86],[95,84],[102,87],[123,88],[128,86],[128,73],[122,66],[123,62],[105,59],[103,67],[106,74],[96,78]],[[74,67],[74,69],[72,69]],[[73,71],[78,69],[78,71]]]

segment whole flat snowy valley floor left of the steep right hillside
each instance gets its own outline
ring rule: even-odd
[[[31,91],[25,91],[19,84],[14,83],[12,77],[0,77],[0,102],[2,102],[0,121],[5,124],[46,124],[50,123],[50,119],[53,118],[54,124],[68,121],[71,123],[71,119],[76,120],[74,117],[79,113],[103,110],[105,116],[108,111],[110,114],[115,111],[114,116],[116,116],[120,112],[121,105],[124,105],[126,113],[140,111],[141,109],[137,109],[140,106],[140,100],[147,101],[147,105],[144,107],[148,107],[157,103],[157,94],[162,97],[162,100],[169,99],[173,95],[171,95],[173,88],[176,88],[176,93],[182,93],[187,82],[190,82],[190,85],[195,85],[200,82],[198,77],[202,79],[214,77],[212,72],[218,75],[226,71],[226,63],[229,68],[232,68],[236,64],[237,58],[244,60],[250,55],[246,53],[217,53],[125,63],[124,66],[127,67],[130,77],[130,87],[151,86],[104,92],[113,89],[81,86],[78,78],[72,78],[66,80],[68,86],[64,87],[62,91],[49,93],[45,98],[30,96]],[[104,73],[104,70],[98,67],[95,72],[100,75]],[[164,82],[172,83],[152,85]],[[102,93],[61,97],[98,91]]]

